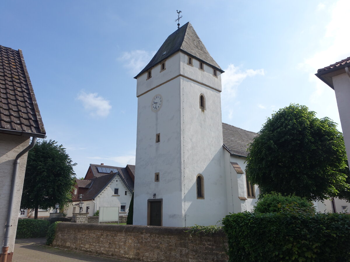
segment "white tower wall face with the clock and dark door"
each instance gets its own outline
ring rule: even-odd
[[[163,225],[182,226],[180,53],[137,78],[138,118],[135,161],[134,225],[147,225],[147,201],[163,199]],[[170,80],[170,81],[169,81]],[[158,87],[157,87],[158,86]],[[156,88],[154,88],[156,87]],[[162,107],[153,112],[153,97],[162,96]],[[160,142],[156,143],[156,134]],[[159,182],[155,182],[159,173]]]

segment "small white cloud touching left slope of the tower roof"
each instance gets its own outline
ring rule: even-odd
[[[124,67],[128,68],[131,74],[136,75],[151,61],[155,51],[133,50],[124,52],[119,60],[124,61]]]

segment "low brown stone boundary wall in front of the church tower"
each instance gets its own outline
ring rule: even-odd
[[[228,261],[223,231],[190,234],[183,227],[57,224],[54,247],[138,261]]]

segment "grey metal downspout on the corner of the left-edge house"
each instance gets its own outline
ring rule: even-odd
[[[1,262],[6,262],[7,260],[7,253],[8,253],[8,247],[9,247],[9,238],[10,238],[10,227],[11,225],[11,218],[12,218],[12,209],[13,209],[13,202],[14,202],[14,195],[15,195],[15,189],[16,189],[16,180],[17,180],[17,173],[18,173],[18,167],[19,167],[19,158],[22,157],[25,153],[27,153],[31,148],[34,147],[36,143],[36,137],[33,137],[31,140],[31,143],[29,146],[27,146],[23,151],[21,151],[15,158],[14,161],[14,167],[13,167],[13,173],[12,173],[12,182],[11,182],[11,191],[10,191],[10,201],[8,205],[7,210],[7,220],[5,225],[5,237],[3,240],[3,246],[2,246],[2,258]]]

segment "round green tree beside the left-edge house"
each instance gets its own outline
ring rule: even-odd
[[[69,155],[54,140],[38,141],[28,152],[26,174],[23,184],[21,209],[60,207],[72,201],[75,173]]]

